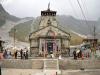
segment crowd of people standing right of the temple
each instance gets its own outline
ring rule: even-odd
[[[99,49],[93,50],[92,48],[75,48],[73,51],[73,57],[74,59],[78,58],[90,58],[92,56],[96,56],[98,53],[100,53]]]

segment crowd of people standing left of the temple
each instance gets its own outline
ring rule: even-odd
[[[9,49],[5,49],[3,53],[0,54],[1,59],[28,59],[27,48],[21,50],[15,50],[11,52]]]

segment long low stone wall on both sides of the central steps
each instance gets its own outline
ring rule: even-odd
[[[2,68],[15,68],[15,69],[43,69],[43,59],[5,59],[0,60]],[[51,64],[53,65],[53,64]],[[100,69],[100,60],[59,60],[59,67],[62,70],[67,69]]]

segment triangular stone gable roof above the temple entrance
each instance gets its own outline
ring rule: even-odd
[[[50,28],[51,28],[51,29],[50,29]],[[53,29],[54,29],[54,30],[53,30]],[[59,33],[58,31],[56,31],[56,30],[59,30],[60,33]],[[44,31],[45,31],[45,32],[44,32]],[[68,32],[66,32],[66,31],[64,31],[63,29],[58,28],[58,27],[53,26],[53,25],[50,25],[50,26],[46,26],[46,27],[44,27],[44,28],[41,28],[41,29],[38,29],[38,30],[32,32],[32,33],[29,35],[29,38],[32,39],[32,36],[34,36],[34,38],[36,38],[36,37],[40,37],[41,35],[44,35],[44,36],[46,37],[46,35],[47,35],[48,33],[50,33],[50,36],[51,36],[51,35],[54,35],[54,33],[56,33],[55,36],[60,36],[60,37],[61,37],[61,36],[62,36],[62,37],[67,36],[68,38],[71,37],[70,34],[69,34]],[[52,33],[52,34],[51,34],[51,33]],[[60,34],[60,35],[59,35],[59,34]]]

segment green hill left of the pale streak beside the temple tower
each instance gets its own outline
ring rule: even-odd
[[[32,20],[18,24],[17,26],[14,27],[16,29],[15,31],[16,39],[21,41],[28,41],[28,35],[30,33],[31,23]],[[14,28],[12,28],[11,31],[9,32],[9,35],[12,37],[14,36]]]

